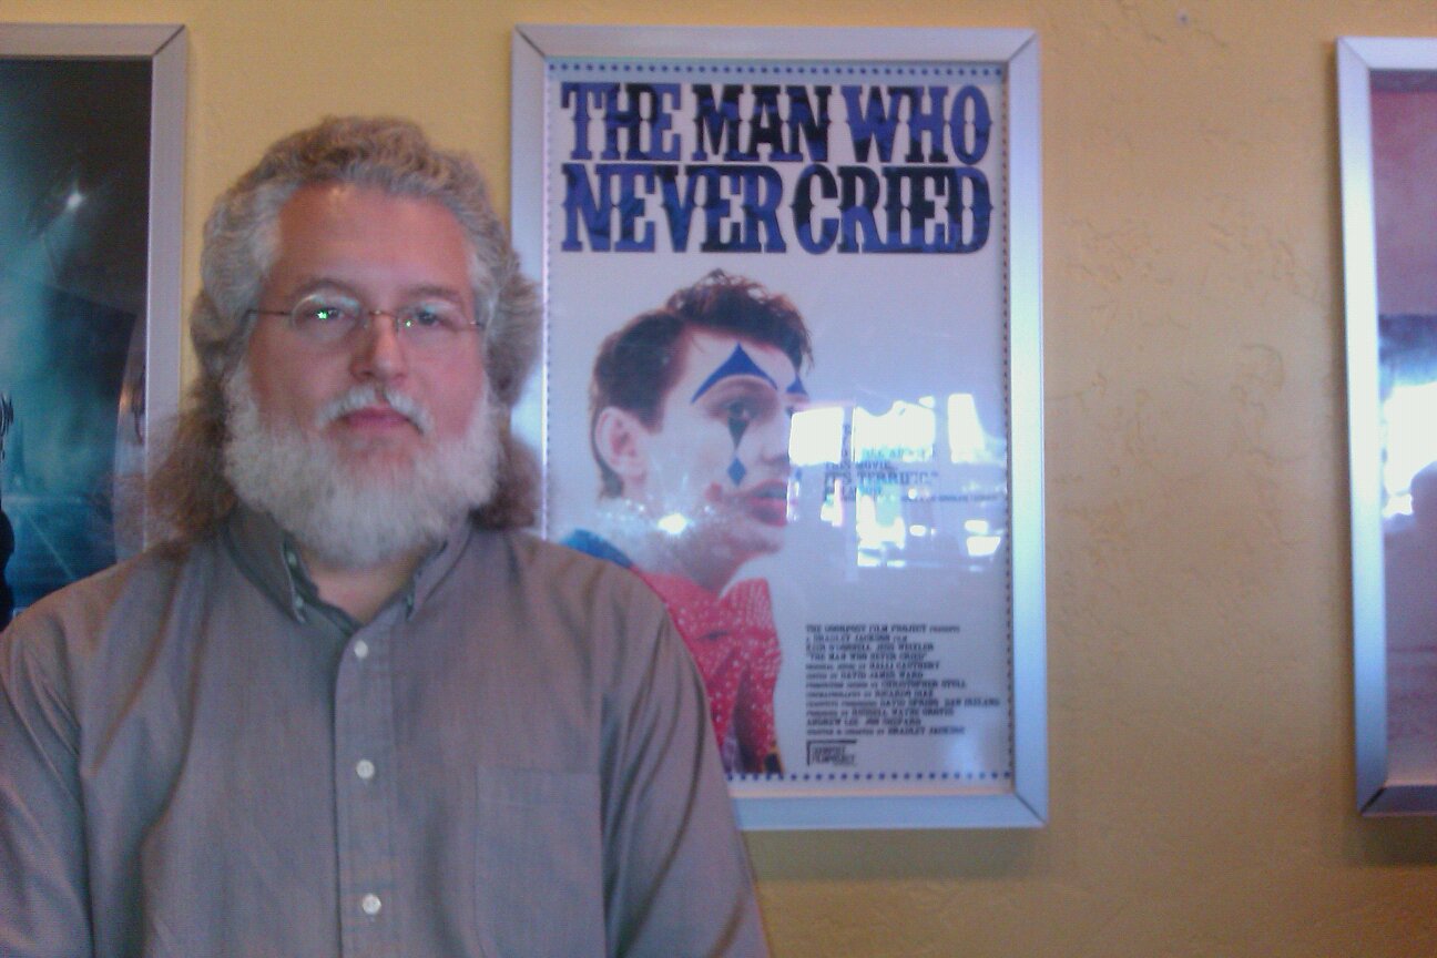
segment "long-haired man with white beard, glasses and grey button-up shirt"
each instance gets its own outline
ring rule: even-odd
[[[0,954],[763,954],[661,605],[513,531],[537,313],[473,165],[325,121],[201,273],[178,540],[0,641]]]

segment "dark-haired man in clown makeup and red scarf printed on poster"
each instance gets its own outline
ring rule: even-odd
[[[668,606],[708,692],[724,768],[782,771],[769,587],[730,587],[787,524],[789,417],[806,399],[803,317],[710,273],[599,348],[589,386],[601,503],[565,544],[632,569]]]

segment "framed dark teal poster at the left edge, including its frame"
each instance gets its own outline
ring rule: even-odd
[[[184,40],[0,23],[0,626],[145,539],[180,392]]]

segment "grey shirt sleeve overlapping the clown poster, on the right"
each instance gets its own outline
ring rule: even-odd
[[[629,675],[606,768],[605,896],[615,958],[763,957],[747,855],[703,685],[678,632]]]

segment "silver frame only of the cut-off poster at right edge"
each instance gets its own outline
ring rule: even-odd
[[[1357,807],[1364,816],[1431,814],[1437,813],[1437,780],[1420,783],[1394,777],[1388,738],[1372,78],[1384,70],[1431,70],[1437,75],[1437,39],[1341,37],[1336,69],[1351,457]]]

